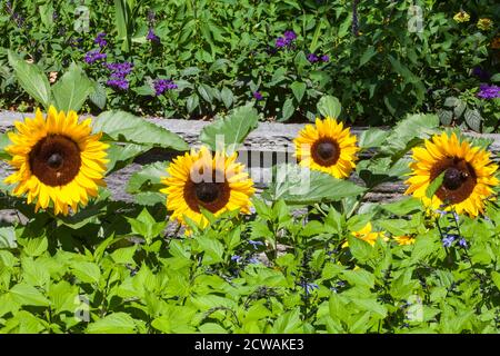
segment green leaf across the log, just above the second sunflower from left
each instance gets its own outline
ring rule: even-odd
[[[201,131],[200,140],[212,150],[223,146],[228,154],[231,154],[238,149],[239,144],[243,142],[258,122],[259,115],[254,108],[240,107],[234,109],[228,117],[206,126]]]

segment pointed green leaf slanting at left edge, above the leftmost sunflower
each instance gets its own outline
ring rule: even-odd
[[[8,51],[8,57],[9,65],[14,70],[16,78],[22,89],[48,109],[50,105],[50,85],[47,77],[37,66],[28,63],[11,50]]]

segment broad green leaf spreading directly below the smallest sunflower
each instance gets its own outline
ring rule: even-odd
[[[288,204],[297,205],[340,200],[358,196],[363,191],[366,191],[364,188],[352,181],[337,179],[296,165],[277,167],[276,179],[268,190],[272,199],[283,199]]]

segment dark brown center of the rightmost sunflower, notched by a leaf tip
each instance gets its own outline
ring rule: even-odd
[[[472,194],[477,184],[476,171],[464,159],[447,157],[432,168],[430,179],[444,172],[444,177],[436,195],[446,204],[459,204]]]

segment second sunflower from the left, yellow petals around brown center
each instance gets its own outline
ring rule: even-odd
[[[208,225],[201,208],[219,216],[226,211],[250,211],[250,197],[254,192],[253,181],[243,171],[244,166],[236,161],[237,154],[212,154],[201,147],[173,159],[167,169],[169,177],[162,178],[168,195],[167,209],[173,211],[171,219],[186,225],[186,218],[198,226]]]

